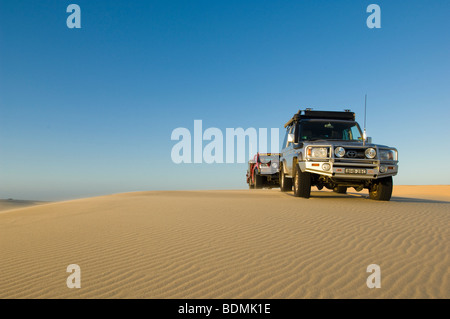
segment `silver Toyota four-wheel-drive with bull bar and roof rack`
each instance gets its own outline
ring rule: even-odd
[[[295,196],[309,198],[311,186],[337,193],[367,188],[371,199],[391,199],[398,152],[365,141],[355,113],[300,110],[284,127],[281,191],[293,186]]]

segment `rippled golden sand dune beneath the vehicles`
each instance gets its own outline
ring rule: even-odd
[[[140,192],[3,211],[0,298],[450,298],[450,186],[312,196]]]

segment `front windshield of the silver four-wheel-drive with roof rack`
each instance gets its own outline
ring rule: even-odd
[[[350,121],[302,121],[299,140],[362,141],[358,123]]]

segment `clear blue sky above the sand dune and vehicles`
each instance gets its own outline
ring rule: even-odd
[[[66,8],[81,7],[81,29]],[[381,7],[381,29],[366,8]],[[0,0],[0,198],[245,188],[172,163],[177,127],[282,128],[350,108],[396,184],[448,184],[450,2]],[[282,131],[280,131],[282,134]]]

